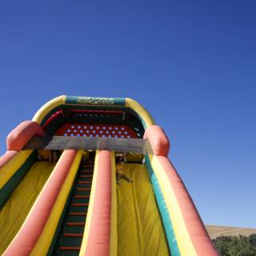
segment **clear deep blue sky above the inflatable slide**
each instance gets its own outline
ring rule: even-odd
[[[61,94],[130,97],[206,224],[256,227],[255,1],[4,1],[0,153]]]

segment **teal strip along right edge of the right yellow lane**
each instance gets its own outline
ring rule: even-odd
[[[180,256],[180,251],[178,248],[178,242],[174,234],[173,224],[171,222],[170,213],[167,209],[165,199],[163,198],[161,188],[158,183],[158,178],[154,174],[154,170],[150,164],[150,158],[146,154],[146,166],[147,171],[150,176],[150,180],[153,185],[154,194],[158,202],[158,209],[162,216],[162,223],[164,229],[166,230],[166,238],[169,245],[170,254],[173,256]]]

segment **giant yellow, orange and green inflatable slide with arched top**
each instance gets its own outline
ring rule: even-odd
[[[133,99],[54,98],[6,146],[0,255],[218,255],[166,134]]]

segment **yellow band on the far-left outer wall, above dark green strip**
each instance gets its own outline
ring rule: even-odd
[[[5,166],[0,169],[0,189],[9,181],[14,173],[22,166],[22,164],[29,158],[33,150],[22,150],[15,154],[14,158],[10,159]]]

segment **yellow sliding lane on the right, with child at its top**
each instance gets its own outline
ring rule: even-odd
[[[146,166],[126,164],[118,190],[118,255],[169,255]]]

